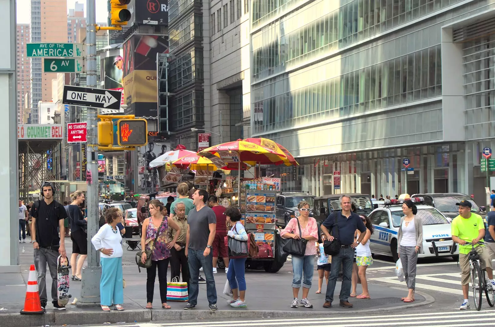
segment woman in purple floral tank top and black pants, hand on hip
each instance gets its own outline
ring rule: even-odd
[[[151,249],[151,267],[146,270],[148,275],[146,280],[147,309],[153,308],[156,268],[158,268],[158,282],[160,283],[161,307],[170,309],[167,304],[168,258],[170,257],[170,248],[175,245],[177,237],[181,234],[181,229],[176,222],[173,220],[168,221],[168,217],[161,214],[164,208],[163,203],[159,200],[153,199],[149,201],[149,214],[151,217],[146,218],[143,222],[142,231],[146,231],[141,235],[141,248],[143,249],[141,260],[143,263],[146,262],[146,250]],[[167,239],[168,225],[177,231],[172,241]],[[155,242],[156,233],[158,233],[158,237]]]

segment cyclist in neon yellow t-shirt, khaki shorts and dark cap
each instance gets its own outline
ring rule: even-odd
[[[469,252],[471,251],[471,245],[464,245],[466,242],[473,244],[483,241],[485,236],[485,224],[483,218],[480,215],[471,212],[471,202],[468,200],[462,200],[455,205],[459,206],[459,215],[452,220],[452,240],[455,243],[459,243],[459,263],[461,266],[461,285],[462,293],[464,295],[464,302],[460,306],[461,310],[469,309],[469,280],[471,278],[471,270],[469,267]],[[476,247],[481,246],[483,250],[479,251],[481,269],[487,270],[488,278],[492,288],[495,289],[495,281],[493,280],[492,260],[488,254],[488,250],[485,249],[485,245],[478,244]]]

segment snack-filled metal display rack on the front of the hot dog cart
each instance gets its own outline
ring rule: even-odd
[[[275,253],[275,190],[241,189],[241,223],[254,234],[258,256],[273,260]]]

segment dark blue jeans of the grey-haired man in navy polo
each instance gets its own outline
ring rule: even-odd
[[[348,247],[347,249],[341,249],[338,255],[332,256],[332,269],[330,271],[330,277],[328,279],[325,301],[332,303],[332,301],[334,300],[335,285],[337,284],[337,278],[339,277],[341,265],[344,276],[342,277],[342,286],[339,299],[341,300],[341,302],[347,301],[347,298],[350,296],[350,280],[352,277],[353,260],[354,249],[351,247]]]

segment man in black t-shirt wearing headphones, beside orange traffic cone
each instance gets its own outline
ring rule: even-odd
[[[33,217],[31,224],[31,238],[33,239],[34,264],[38,272],[38,285],[40,288],[40,300],[43,308],[47,305],[47,263],[51,276],[51,298],[53,307],[57,310],[65,310],[58,305],[57,299],[57,259],[65,253],[64,219],[67,213],[64,207],[53,199],[55,186],[45,182],[41,187],[43,200],[33,204],[30,215]],[[60,231],[58,233],[57,229]]]

